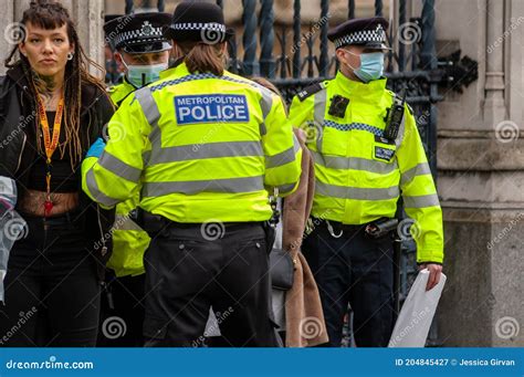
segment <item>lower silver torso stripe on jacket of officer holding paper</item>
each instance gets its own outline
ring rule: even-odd
[[[315,189],[326,197],[356,200],[389,200],[398,198],[400,193],[397,186],[389,188],[346,187],[324,184],[318,179]]]

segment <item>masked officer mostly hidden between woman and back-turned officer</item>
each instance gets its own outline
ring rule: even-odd
[[[168,13],[138,13],[113,18],[104,24],[115,59],[124,66],[124,81],[109,88],[117,105],[132,92],[159,78],[167,69],[170,41],[163,28]],[[99,346],[142,346],[144,338],[144,252],[149,235],[136,223],[139,193],[116,206],[113,254],[107,262],[106,295],[102,300]],[[113,328],[113,329],[112,329]],[[118,329],[115,332],[115,329]]]

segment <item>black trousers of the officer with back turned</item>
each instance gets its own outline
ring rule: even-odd
[[[277,345],[262,224],[217,227],[211,235],[200,224],[151,234],[144,256],[146,346],[202,346],[211,305],[227,345]]]

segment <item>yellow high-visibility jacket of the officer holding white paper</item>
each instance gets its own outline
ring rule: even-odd
[[[382,137],[394,93],[386,78],[368,84],[340,72],[293,98],[290,121],[307,132],[315,161],[312,214],[345,224],[395,217],[402,196],[415,224],[418,262],[443,260],[442,212],[425,149],[408,106],[395,142]],[[314,93],[316,92],[316,93]],[[345,114],[329,114],[332,98],[349,100]]]

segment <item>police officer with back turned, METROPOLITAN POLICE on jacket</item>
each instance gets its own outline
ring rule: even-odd
[[[224,70],[220,7],[180,3],[166,35],[184,62],[124,100],[83,188],[106,207],[140,190],[146,345],[202,345],[212,306],[228,344],[275,346],[268,191],[295,189],[300,145],[280,97]]]

